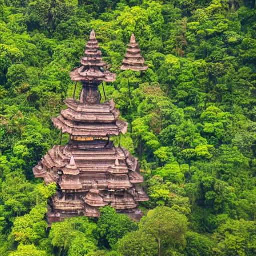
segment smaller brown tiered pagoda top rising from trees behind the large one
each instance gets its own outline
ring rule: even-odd
[[[125,58],[122,61],[121,70],[146,71],[148,66],[144,65],[145,60],[140,54],[141,50],[136,43],[135,35],[130,37]]]

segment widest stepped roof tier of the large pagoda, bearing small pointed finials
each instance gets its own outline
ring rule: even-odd
[[[80,192],[92,188],[130,188],[143,182],[137,158],[110,141],[72,141],[66,146],[54,146],[33,169],[35,177],[43,177],[46,184],[57,182],[62,190],[75,185]],[[64,175],[63,175],[64,174]],[[69,182],[72,179],[72,183]]]

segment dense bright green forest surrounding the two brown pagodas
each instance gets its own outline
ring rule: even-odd
[[[56,185],[32,167],[92,29],[150,200],[139,222],[107,206],[48,228]],[[132,33],[144,73],[120,70]],[[0,0],[0,255],[255,255],[255,148],[255,0]]]

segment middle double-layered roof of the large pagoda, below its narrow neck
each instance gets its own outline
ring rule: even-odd
[[[80,104],[73,98],[64,102],[68,108],[52,119],[62,132],[76,137],[117,136],[127,132],[128,123],[119,119],[120,112],[114,108],[113,100],[94,105]]]

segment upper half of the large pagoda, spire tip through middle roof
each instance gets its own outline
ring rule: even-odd
[[[73,98],[66,99],[68,108],[52,119],[54,126],[70,134],[71,140],[126,133],[128,123],[119,119],[120,113],[114,108],[113,100],[100,105],[98,86],[102,81],[115,80],[115,74],[104,70],[106,63],[102,61],[94,30],[90,33],[81,64],[70,73],[72,80],[82,82],[79,102]]]

